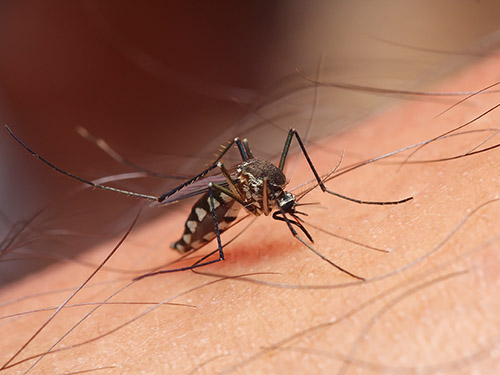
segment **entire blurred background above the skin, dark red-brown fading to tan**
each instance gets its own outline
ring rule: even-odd
[[[89,179],[127,168],[78,136],[76,126],[165,173],[188,173],[181,163],[198,156],[188,168],[194,173],[193,165],[210,160],[208,150],[250,128],[260,131],[252,133],[253,144],[267,141],[269,154],[279,152],[280,133],[261,120],[238,122],[252,116],[234,99],[267,106],[270,99],[262,98],[272,98],[269,92],[283,98],[307,86],[295,69],[314,77],[320,61],[320,76],[330,81],[421,87],[489,53],[498,14],[497,1],[5,0],[0,119],[54,164]],[[309,104],[312,97],[302,92],[290,103]],[[386,99],[330,90],[328,109],[319,111],[311,136],[349,126]],[[310,112],[296,117],[289,107],[269,107],[266,115],[280,120],[283,129],[307,130]],[[0,174],[2,233],[78,186],[31,158],[3,130]],[[159,185],[153,180],[125,187],[158,193]],[[53,258],[45,251],[71,257],[119,233],[123,223],[116,218],[130,218],[123,213],[137,204],[125,201],[88,191],[57,202],[25,240],[35,244],[31,249],[39,257],[4,257],[0,282],[49,264]],[[65,240],[56,229],[66,232]],[[52,235],[57,239],[47,245]],[[38,239],[45,241],[39,248]]]

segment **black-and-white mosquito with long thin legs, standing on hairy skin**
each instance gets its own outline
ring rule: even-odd
[[[396,205],[413,199],[413,197],[408,197],[402,200],[388,202],[364,201],[350,198],[327,189],[324,180],[321,179],[316,171],[299,133],[295,129],[290,129],[288,131],[277,166],[267,160],[255,158],[247,139],[240,140],[240,138],[234,138],[220,152],[219,156],[210,166],[167,193],[157,196],[94,183],[66,172],[31,150],[31,148],[24,144],[7,125],[5,128],[24,149],[31,153],[32,156],[38,158],[57,172],[94,188],[154,201],[159,205],[174,203],[201,194],[201,197],[194,203],[185,222],[184,232],[181,238],[172,243],[171,247],[181,254],[186,254],[199,250],[215,238],[217,240],[217,250],[205,255],[190,266],[154,271],[141,275],[135,280],[163,273],[192,270],[223,261],[225,258],[221,234],[236,221],[238,213],[242,208],[250,215],[271,215],[274,220],[286,223],[291,234],[323,260],[355,279],[364,280],[364,278],[349,272],[325,258],[310,245],[314,243],[314,240],[300,219],[300,215],[306,214],[297,210],[299,203],[296,196],[285,190],[288,181],[283,173],[283,169],[294,138],[314,175],[316,185],[319,186],[324,193],[358,204]],[[232,172],[230,172],[222,162],[222,159],[233,147],[236,147],[239,151],[242,161],[232,169]],[[209,172],[215,169],[218,169],[221,174],[207,176]],[[307,237],[309,243],[299,235],[299,232],[297,232],[295,228],[298,228]],[[218,253],[217,259],[207,260],[216,253]]]

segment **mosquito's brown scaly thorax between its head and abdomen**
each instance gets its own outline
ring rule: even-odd
[[[287,180],[274,164],[262,159],[249,159],[238,165],[236,172],[238,187],[250,202],[245,207],[250,213],[263,213],[264,179],[267,179],[268,207],[276,207],[276,199],[282,199]]]

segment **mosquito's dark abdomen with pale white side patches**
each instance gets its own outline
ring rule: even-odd
[[[241,206],[220,191],[213,191],[212,195],[219,232],[222,233],[236,220]],[[210,195],[207,192],[193,205],[181,239],[170,245],[173,249],[181,253],[196,250],[216,237],[211,206]]]

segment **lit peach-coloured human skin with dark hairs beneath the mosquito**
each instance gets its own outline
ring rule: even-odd
[[[499,60],[486,59],[432,90],[477,90],[493,84],[498,81]],[[324,174],[339,160],[332,149],[345,150],[343,167],[354,159],[351,155],[356,160],[359,155],[380,156],[432,139],[495,106],[498,95],[477,96],[435,118],[458,100],[438,102],[429,97],[403,103],[342,135],[310,144],[311,159]],[[463,130],[494,128],[496,119],[493,111]],[[491,134],[436,141],[410,160],[461,155]],[[494,143],[495,138],[482,147]],[[358,199],[391,201],[412,196],[409,202],[358,205],[315,189],[304,202],[320,206],[300,208],[309,214],[307,223],[392,250],[388,254],[370,250],[305,225],[315,249],[366,281],[355,280],[318,258],[290,235],[284,223],[261,217],[225,248],[224,262],[199,270],[212,275],[188,271],[133,282],[110,301],[159,305],[100,306],[54,348],[55,353],[36,363],[32,373],[498,372],[500,202],[492,200],[498,197],[499,151],[401,166],[403,159],[369,164],[326,185]],[[312,178],[304,159],[296,160],[289,187]],[[175,260],[178,255],[168,244],[178,239],[186,215],[185,209],[172,210],[132,229],[107,265],[144,269]],[[243,228],[244,223],[240,225]],[[100,245],[86,259],[98,264],[118,241]],[[2,300],[41,290],[74,289],[92,271],[78,263],[57,264],[9,285],[2,291]],[[132,278],[102,270],[89,285],[112,283],[86,286],[68,304],[103,301]],[[58,306],[70,293],[19,301],[4,306],[2,315]],[[37,355],[95,307],[61,310],[12,363],[35,358],[6,373],[26,371],[40,358]],[[52,313],[5,320],[2,328],[9,342],[4,340],[2,345],[2,363]]]

